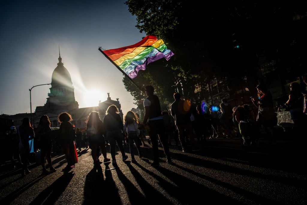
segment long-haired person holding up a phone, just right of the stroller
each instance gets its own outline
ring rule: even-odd
[[[272,94],[269,89],[262,84],[259,84],[256,88],[258,90],[258,101],[256,102],[255,99],[252,98],[252,102],[258,107],[257,122],[266,133],[271,145],[276,145],[274,125],[277,124],[277,117],[274,110]]]

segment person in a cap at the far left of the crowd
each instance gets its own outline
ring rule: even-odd
[[[6,140],[7,140],[6,141],[7,146],[11,154],[10,155],[11,161],[13,162],[15,158],[16,160],[18,160],[18,164],[21,166],[22,163],[21,163],[20,153],[19,153],[19,137],[18,137],[18,134],[16,133],[15,126],[11,126],[10,133],[7,135]]]

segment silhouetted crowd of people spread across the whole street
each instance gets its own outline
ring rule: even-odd
[[[306,83],[306,75],[304,76]],[[307,83],[306,83],[307,84]],[[194,105],[188,99],[183,99],[179,93],[174,94],[174,102],[170,110],[161,111],[159,97],[154,95],[154,88],[146,86],[142,91],[146,93],[144,100],[145,113],[141,121],[138,114],[127,112],[121,119],[115,105],[108,107],[106,115],[101,120],[99,113],[92,111],[86,120],[84,132],[70,123],[72,117],[67,112],[58,116],[59,129],[52,129],[47,115],[40,118],[37,128],[34,130],[29,118],[24,118],[22,125],[11,127],[7,135],[7,144],[10,147],[11,159],[18,161],[17,167],[22,168],[22,175],[29,174],[28,162],[30,153],[37,155],[37,162],[41,164],[42,174],[55,172],[52,166],[51,153],[64,152],[67,166],[62,170],[69,172],[78,162],[78,152],[81,147],[91,149],[94,167],[101,163],[112,162],[117,167],[116,160],[128,159],[124,146],[129,145],[131,162],[136,163],[135,155],[141,159],[142,148],[152,145],[152,166],[159,166],[158,147],[162,146],[166,162],[171,164],[172,157],[169,146],[181,145],[183,152],[199,151],[201,145],[215,137],[224,138],[239,137],[245,146],[259,143],[262,130],[271,145],[277,144],[277,134],[274,126],[277,125],[277,114],[274,110],[273,97],[269,89],[259,84],[258,96],[251,98],[251,104],[231,106],[227,99],[222,99],[219,106]],[[297,136],[306,136],[306,93],[300,84],[290,85],[289,100],[282,109],[290,111]],[[280,111],[277,110],[277,111]],[[150,139],[145,143],[146,133]],[[137,148],[134,150],[134,144]],[[35,146],[36,145],[36,146]],[[107,146],[110,146],[111,159],[107,158]],[[34,148],[33,148],[34,147]],[[119,148],[121,157],[116,157],[116,147]],[[37,151],[39,150],[39,151]],[[103,155],[103,162],[99,156]],[[45,160],[49,164],[49,170],[45,168]]]

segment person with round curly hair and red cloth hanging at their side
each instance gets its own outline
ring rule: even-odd
[[[64,150],[64,154],[67,160],[67,166],[63,169],[64,172],[69,171],[75,167],[75,163],[78,162],[77,150],[74,145],[76,132],[70,123],[72,116],[67,112],[59,114],[58,121],[60,124],[60,145]]]

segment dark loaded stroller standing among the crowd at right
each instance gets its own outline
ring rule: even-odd
[[[237,111],[239,112],[239,131],[242,135],[243,145],[249,146],[252,144],[259,144],[259,137],[257,132],[257,125],[252,120],[251,110],[249,105],[239,106]]]

